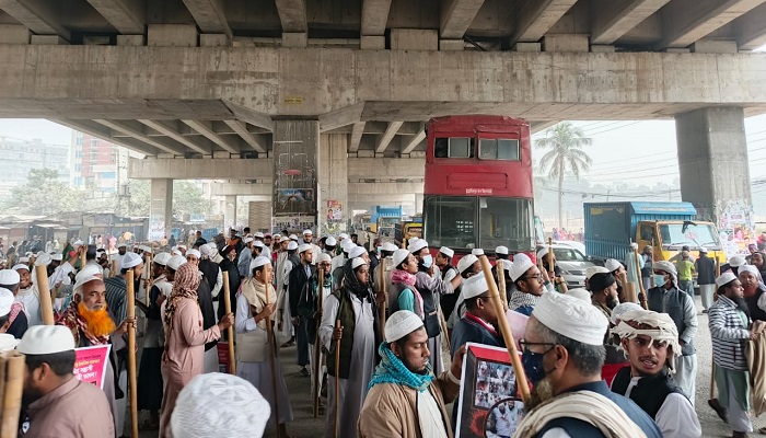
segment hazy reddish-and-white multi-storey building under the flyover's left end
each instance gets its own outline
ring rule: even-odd
[[[72,131],[71,182],[95,193],[115,193],[127,183],[128,150],[109,141]]]

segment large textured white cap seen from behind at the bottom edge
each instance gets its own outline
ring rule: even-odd
[[[175,437],[260,437],[271,407],[248,381],[221,372],[199,374],[184,387],[171,415]]]

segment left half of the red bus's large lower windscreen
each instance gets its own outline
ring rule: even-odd
[[[432,246],[473,247],[476,244],[475,197],[428,196],[423,204],[428,218],[426,234]]]

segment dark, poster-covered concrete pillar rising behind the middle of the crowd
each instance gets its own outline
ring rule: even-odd
[[[316,233],[318,120],[274,122],[274,229]]]

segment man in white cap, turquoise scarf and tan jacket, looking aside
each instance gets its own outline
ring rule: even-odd
[[[434,376],[427,339],[422,320],[410,311],[394,312],[385,322],[385,342],[378,348],[381,364],[356,422],[356,436],[452,436],[445,404],[460,391],[465,347],[454,354],[450,370]]]

